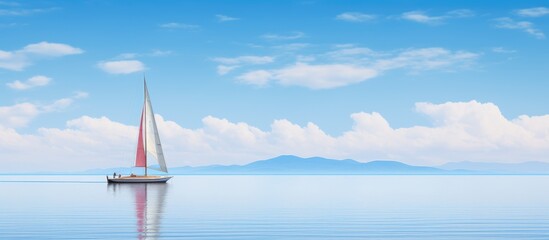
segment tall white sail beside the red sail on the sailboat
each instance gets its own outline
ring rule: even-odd
[[[160,137],[158,136],[158,128],[156,127],[156,121],[154,119],[154,112],[151,105],[151,99],[149,98],[149,90],[147,84],[145,84],[145,142],[147,153],[153,156],[160,166],[160,171],[168,172],[166,167],[166,161],[164,160],[164,152],[162,151],[162,144],[160,143]],[[154,169],[154,168],[153,168]]]

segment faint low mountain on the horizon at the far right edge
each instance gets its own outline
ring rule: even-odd
[[[486,162],[452,162],[437,168],[444,170],[469,170],[482,174],[549,174],[549,163],[486,163]]]

